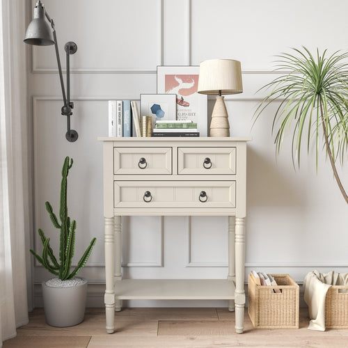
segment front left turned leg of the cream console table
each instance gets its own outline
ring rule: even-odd
[[[106,290],[104,295],[106,313],[106,332],[115,330],[115,287],[113,284],[114,254],[113,254],[113,217],[105,218],[105,280]]]

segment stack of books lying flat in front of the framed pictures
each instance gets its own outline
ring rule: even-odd
[[[157,120],[151,136],[199,136],[199,132],[191,120]]]

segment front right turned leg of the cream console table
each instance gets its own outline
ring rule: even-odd
[[[245,218],[236,217],[235,221],[235,257],[236,257],[236,290],[235,290],[235,329],[242,333],[244,329],[244,262],[245,262]]]

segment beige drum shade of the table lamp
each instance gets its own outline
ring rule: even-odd
[[[198,93],[208,95],[243,92],[242,70],[239,61],[210,59],[200,63]]]

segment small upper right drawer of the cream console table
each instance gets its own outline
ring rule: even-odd
[[[236,148],[177,148],[178,174],[236,174]]]

